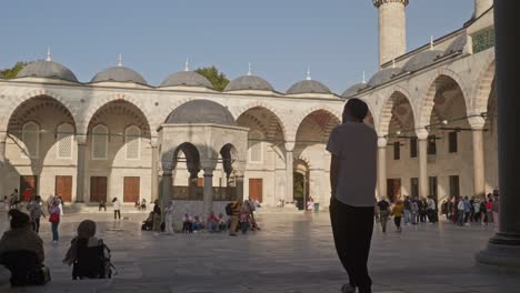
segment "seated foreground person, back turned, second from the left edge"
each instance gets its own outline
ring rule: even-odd
[[[110,277],[110,250],[96,235],[96,222],[84,220],[78,225],[63,263],[72,265],[72,280]]]

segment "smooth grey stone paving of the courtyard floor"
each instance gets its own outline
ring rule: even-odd
[[[7,228],[0,214],[0,231]],[[333,247],[327,212],[260,213],[262,231],[230,238],[196,233],[162,235],[141,232],[146,214],[68,214],[60,243],[51,243],[44,221],[41,236],[52,282],[43,287],[6,292],[339,292],[347,276]],[[119,274],[112,280],[71,281],[61,260],[78,223],[92,219],[112,249]],[[391,222],[390,222],[391,223]],[[449,223],[376,230],[370,255],[374,292],[520,292],[518,275],[477,267],[492,228]],[[2,291],[2,289],[0,289]]]

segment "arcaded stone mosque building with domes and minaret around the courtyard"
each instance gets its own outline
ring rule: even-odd
[[[380,70],[336,94],[307,79],[281,92],[249,71],[217,91],[184,71],[148,84],[120,62],[80,82],[46,60],[0,79],[0,190],[97,204],[173,199],[207,213],[233,199],[267,206],[330,200],[326,143],[346,100],[370,108],[378,196],[481,195],[498,185],[492,1],[411,51],[408,0],[373,0]],[[188,209],[188,208],[187,208]]]

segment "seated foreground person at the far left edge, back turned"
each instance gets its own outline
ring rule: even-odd
[[[12,286],[44,285],[50,281],[43,265],[43,241],[32,231],[28,214],[9,211],[11,229],[0,240],[0,264],[11,271]]]

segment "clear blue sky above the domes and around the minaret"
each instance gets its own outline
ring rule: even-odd
[[[473,0],[410,0],[408,49],[462,27]],[[152,85],[183,69],[217,65],[229,79],[253,74],[278,91],[312,78],[341,93],[378,68],[372,0],[23,0],[0,8],[0,68],[44,59],[80,81],[123,63]]]

